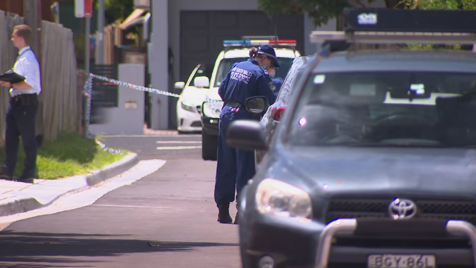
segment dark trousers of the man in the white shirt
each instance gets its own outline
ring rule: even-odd
[[[19,105],[10,103],[7,112],[7,131],[5,134],[5,149],[7,157],[2,174],[13,176],[17,165],[18,147],[21,141],[25,150],[24,169],[22,178],[35,176],[37,144],[35,138],[35,117],[38,105]]]

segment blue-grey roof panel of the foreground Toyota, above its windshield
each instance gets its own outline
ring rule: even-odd
[[[365,50],[331,53],[315,72],[429,71],[476,72],[476,53],[468,51]]]

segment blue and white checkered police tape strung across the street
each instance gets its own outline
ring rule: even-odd
[[[83,92],[84,92],[84,95],[86,96],[86,101],[88,102],[87,106],[85,107],[86,108],[86,124],[87,124],[87,127],[85,129],[87,131],[86,135],[90,138],[94,138],[94,135],[89,132],[89,120],[90,120],[90,117],[91,117],[91,93],[92,93],[92,80],[93,79],[98,79],[98,80],[101,80],[101,81],[104,81],[104,82],[109,82],[109,83],[112,83],[112,84],[129,87],[131,89],[135,89],[135,90],[139,90],[139,91],[161,94],[161,95],[176,97],[176,98],[180,97],[179,94],[170,93],[170,92],[167,92],[167,91],[158,90],[158,89],[154,89],[154,88],[150,88],[150,87],[139,86],[139,85],[131,84],[131,83],[128,83],[128,82],[122,82],[122,81],[119,81],[119,80],[108,78],[108,77],[105,77],[105,76],[100,76],[100,75],[96,75],[96,74],[93,74],[93,73],[89,73],[88,79],[86,80],[86,82],[84,82]],[[216,101],[216,100],[210,100],[210,99],[199,100],[199,101],[203,101],[203,102],[207,102],[207,103],[219,103],[219,104],[223,103],[222,101]],[[96,139],[96,143],[99,144],[104,150],[106,150],[110,153],[123,154],[122,151],[108,148],[105,144],[101,143],[98,139]]]

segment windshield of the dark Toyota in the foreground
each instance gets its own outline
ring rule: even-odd
[[[315,73],[296,107],[293,145],[476,145],[476,73]]]

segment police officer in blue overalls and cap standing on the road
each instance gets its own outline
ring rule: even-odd
[[[254,152],[230,147],[226,141],[228,126],[233,120],[253,118],[245,109],[246,99],[265,96],[271,105],[278,93],[267,71],[271,66],[280,66],[274,49],[269,45],[261,45],[258,49],[252,48],[249,57],[247,61],[231,65],[218,88],[218,94],[224,102],[218,123],[218,162],[215,181],[215,202],[219,210],[220,223],[232,222],[229,205],[235,199],[235,188],[238,199],[241,189],[255,174]],[[238,218],[235,218],[236,223]]]

